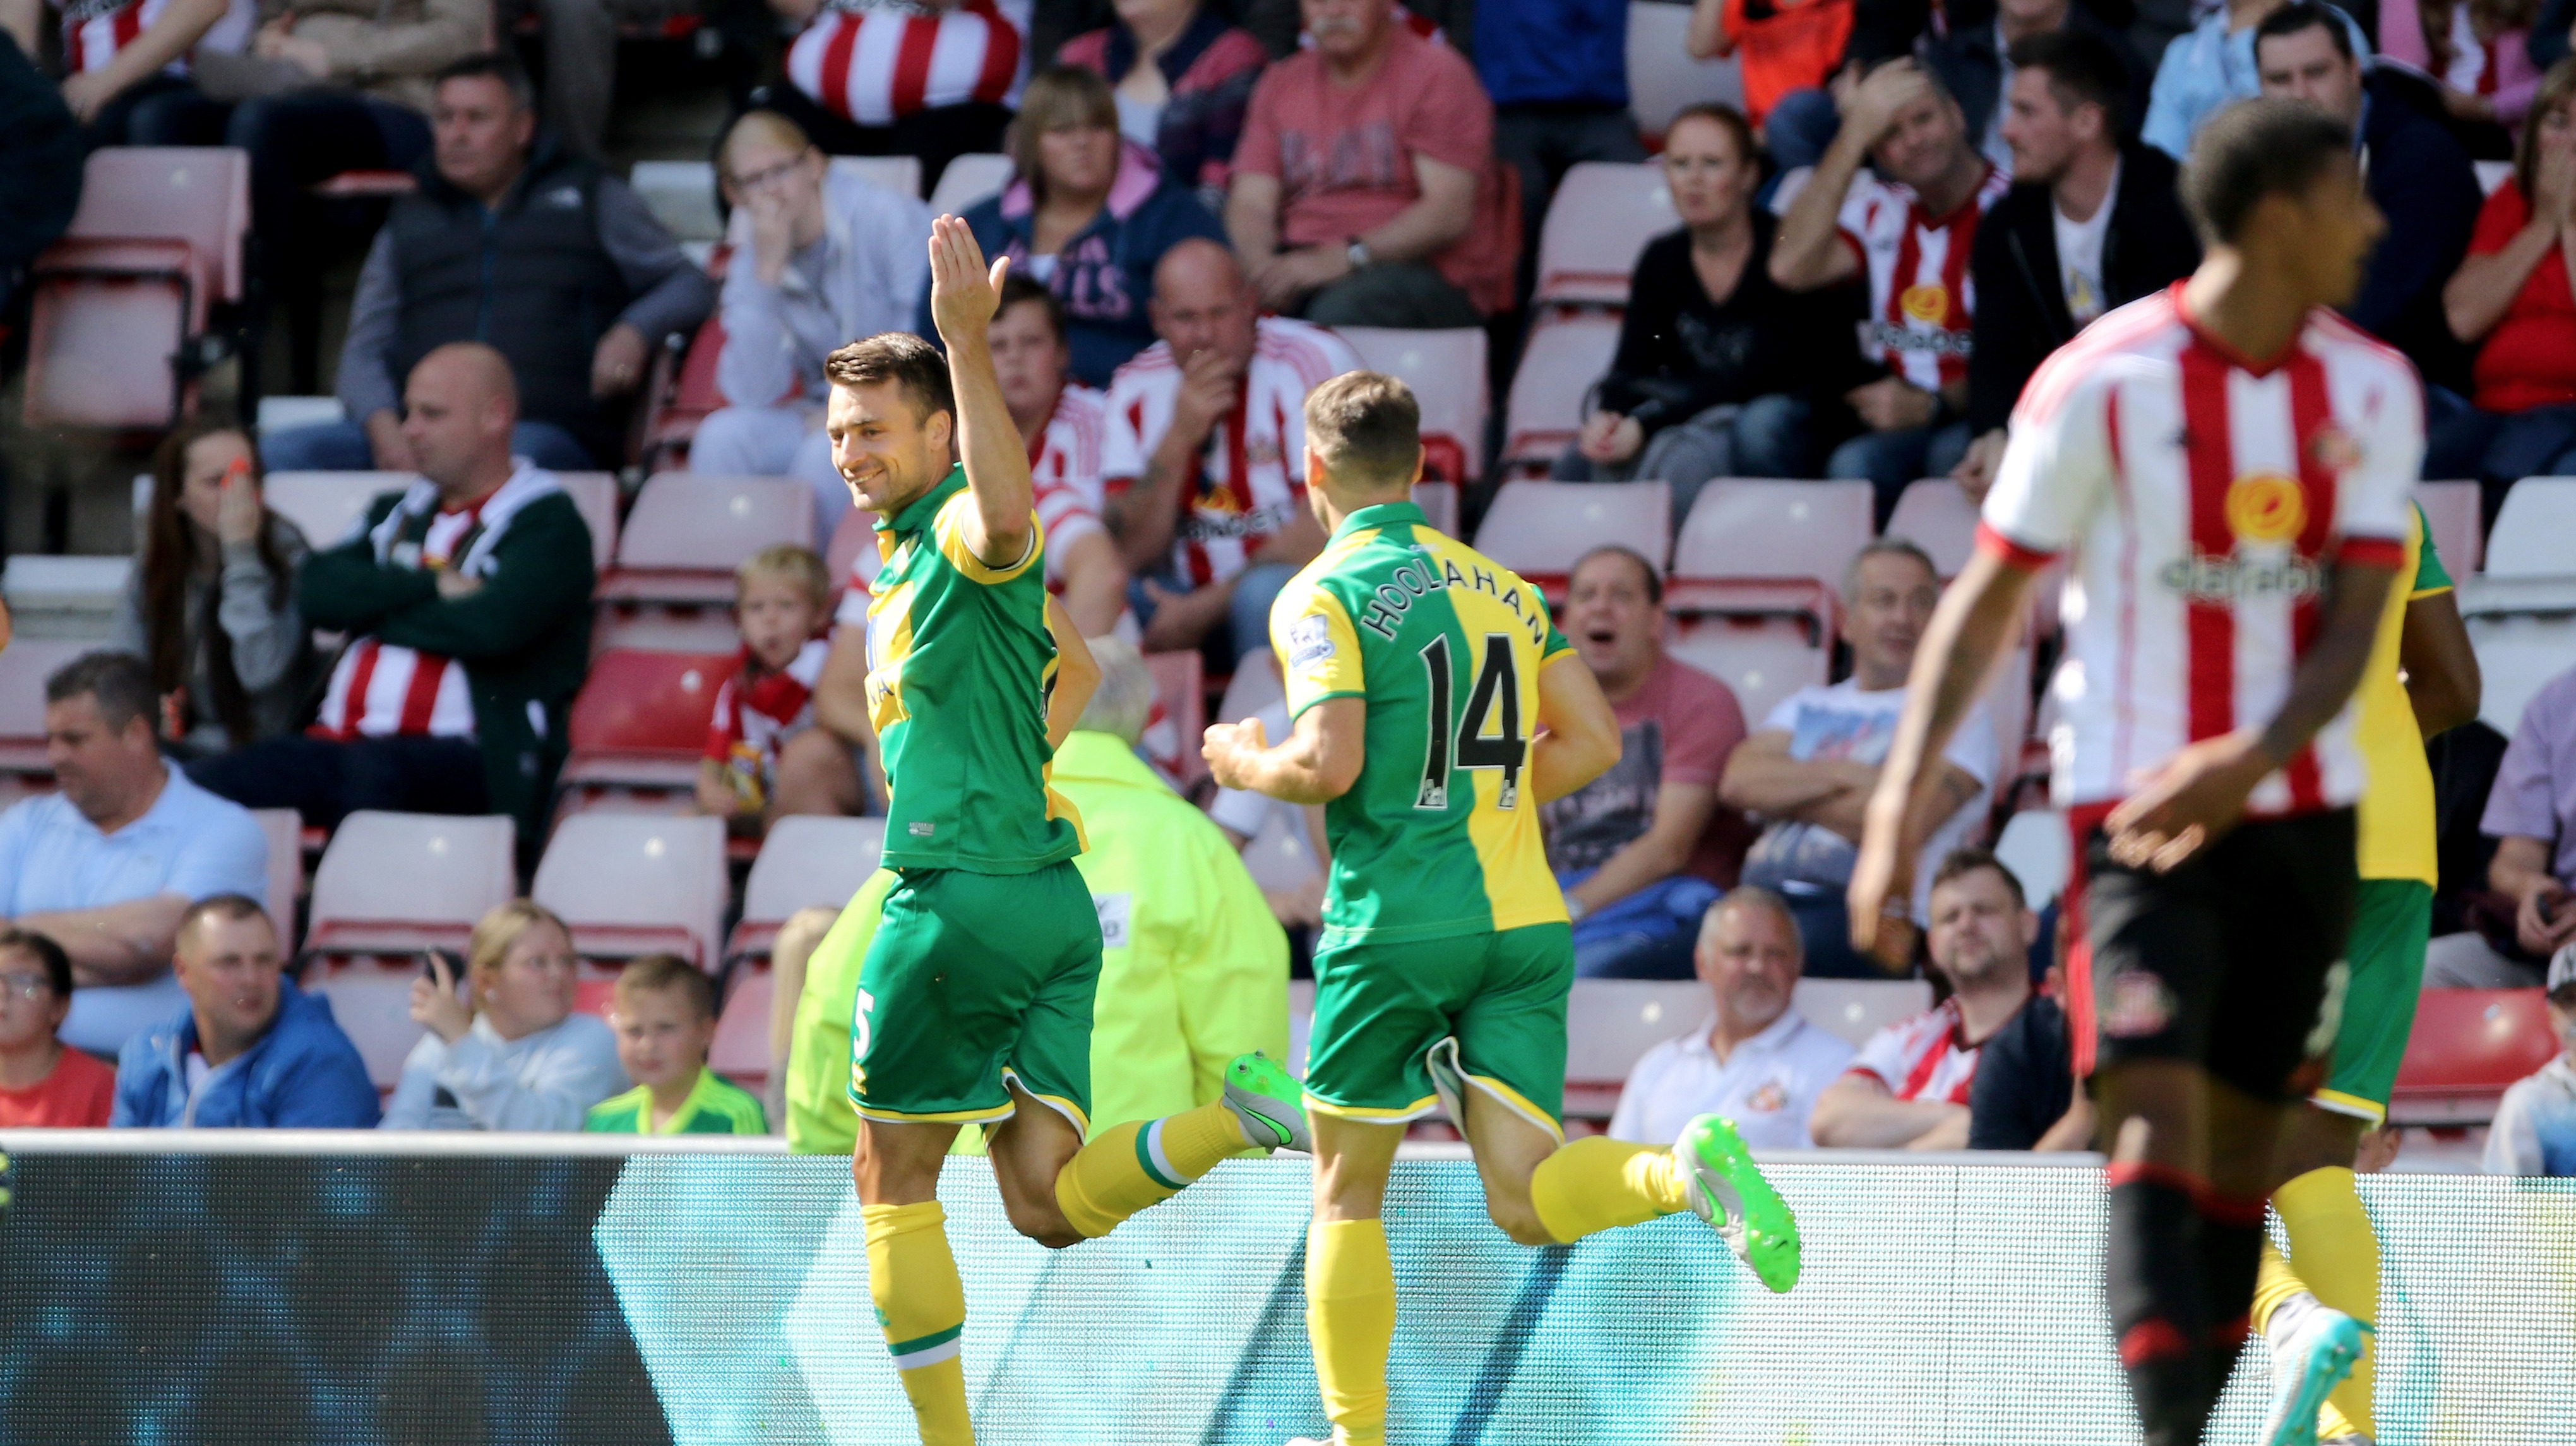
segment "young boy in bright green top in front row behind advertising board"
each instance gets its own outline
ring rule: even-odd
[[[677,954],[647,954],[618,974],[608,1010],[618,1065],[636,1088],[590,1106],[598,1134],[768,1134],[750,1090],[716,1077],[716,982]]]

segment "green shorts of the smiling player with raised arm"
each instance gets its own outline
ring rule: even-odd
[[[1010,1083],[1090,1132],[1100,915],[1072,861],[904,869],[858,972],[850,1106],[896,1124],[1010,1119]]]

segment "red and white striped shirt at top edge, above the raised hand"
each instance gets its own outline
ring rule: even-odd
[[[1030,0],[829,0],[788,44],[788,82],[860,126],[989,101],[1018,106]]]

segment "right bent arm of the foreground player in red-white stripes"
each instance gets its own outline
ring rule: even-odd
[[[2130,791],[2102,825],[2112,858],[2161,874],[2236,827],[2254,784],[2287,766],[2352,701],[2370,668],[2370,644],[2396,577],[2398,570],[2378,557],[2336,562],[2326,588],[2326,621],[2290,673],[2290,696],[2272,722],[2205,737]]]

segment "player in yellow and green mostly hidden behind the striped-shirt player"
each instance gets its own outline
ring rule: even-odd
[[[2432,768],[2424,740],[2478,717],[2478,655],[2468,647],[2450,572],[2424,513],[2409,518],[2406,562],[2370,647],[2354,742],[2370,763],[2360,804],[2360,892],[2334,1070],[2300,1111],[2272,1193],[2290,1260],[2269,1240],[2254,1289],[2254,1330],[2272,1345],[2267,1441],[2370,1446],[2370,1353],[2378,1322],[2380,1242],[2352,1188],[2362,1132],[2388,1121],[2388,1090],[2414,1031],[2437,884]],[[2339,1369],[2352,1376],[2336,1384]],[[2331,1400],[2326,1392],[2331,1389]],[[2324,1407],[2318,1402],[2326,1400]]]

